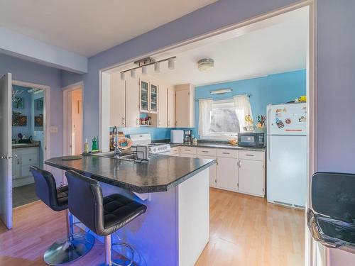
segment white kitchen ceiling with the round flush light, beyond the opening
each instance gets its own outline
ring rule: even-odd
[[[156,55],[156,59],[176,55],[175,70],[168,70],[168,63],[164,62],[160,73],[155,73],[151,66],[148,74],[170,84],[202,85],[263,77],[306,67],[307,9],[254,23],[249,28],[228,34],[224,38],[205,40],[200,45],[190,45],[190,48],[187,45]],[[213,70],[200,72],[197,69],[197,61],[204,57],[214,59]],[[133,67],[133,64],[127,67]],[[121,70],[124,68],[119,67],[115,72]]]

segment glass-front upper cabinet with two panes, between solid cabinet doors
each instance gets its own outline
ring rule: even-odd
[[[158,113],[158,85],[141,79],[140,84],[140,104],[142,113]]]

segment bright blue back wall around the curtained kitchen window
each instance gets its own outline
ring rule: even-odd
[[[210,94],[212,90],[231,88],[226,94]],[[306,94],[306,70],[271,74],[267,77],[244,79],[195,88],[195,99],[229,99],[238,94],[250,94],[251,111],[256,121],[258,115],[266,116],[268,104],[283,104]],[[193,133],[198,137],[199,104],[195,102],[195,128]]]

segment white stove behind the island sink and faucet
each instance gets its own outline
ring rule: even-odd
[[[149,155],[154,154],[165,154],[170,155],[170,144],[168,143],[152,143],[151,134],[131,134],[129,135],[133,145],[131,147],[132,151],[136,150],[138,146],[148,146]]]

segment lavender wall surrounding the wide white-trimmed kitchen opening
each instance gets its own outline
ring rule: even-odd
[[[220,0],[89,59],[84,76],[62,73],[62,84],[84,80],[84,135],[99,132],[99,69],[231,23],[292,4],[295,0]],[[323,171],[355,172],[355,1],[319,0],[318,165]],[[331,254],[332,265],[355,255]],[[350,263],[350,262],[349,262]]]

